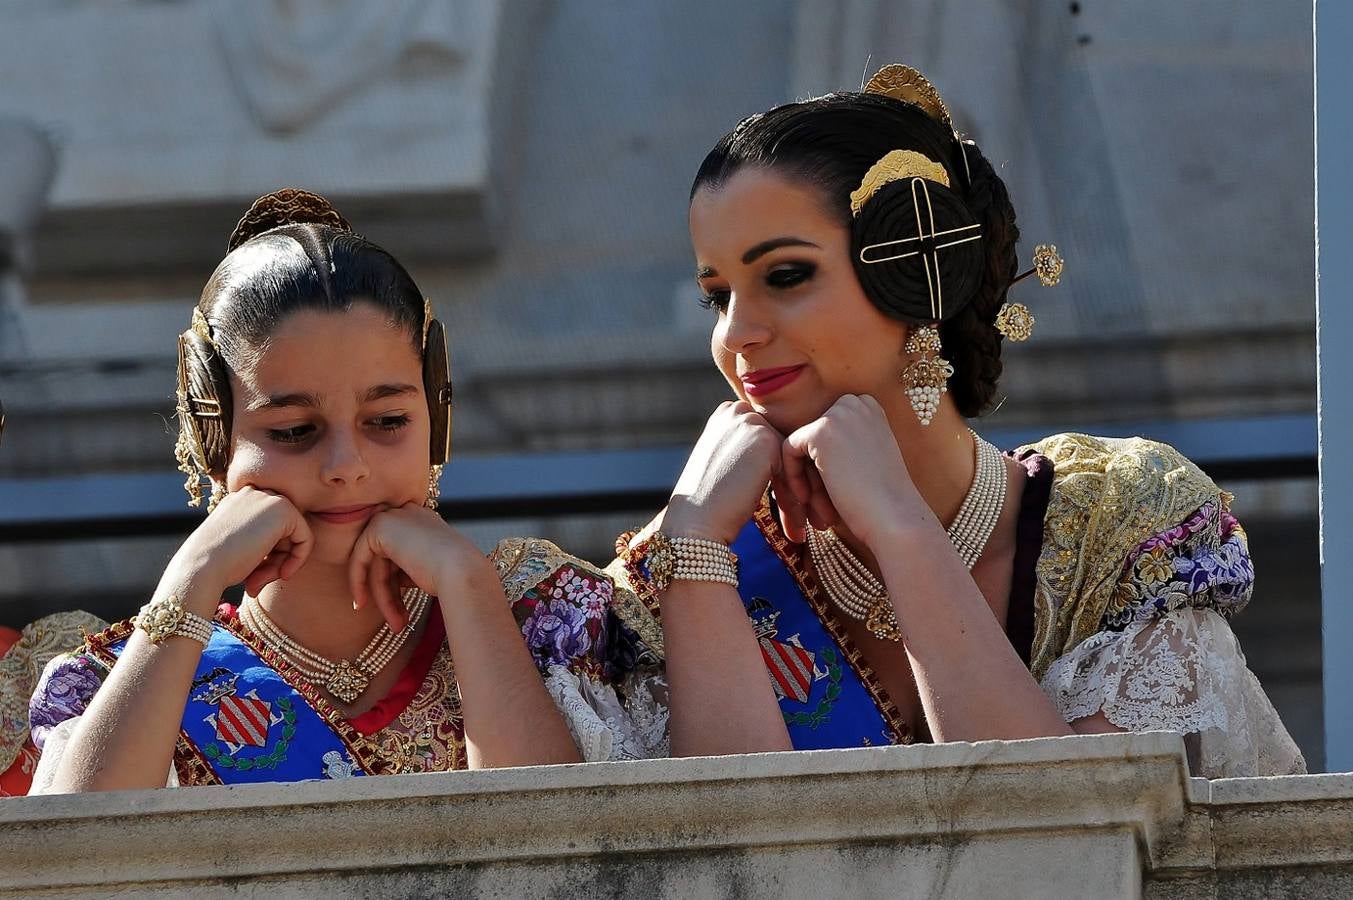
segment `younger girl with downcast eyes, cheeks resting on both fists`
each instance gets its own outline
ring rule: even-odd
[[[34,790],[578,759],[551,693],[603,665],[598,577],[543,541],[486,559],[434,512],[445,338],[403,267],[322,198],[268,195],[179,352],[211,512],[135,618],[47,666]]]

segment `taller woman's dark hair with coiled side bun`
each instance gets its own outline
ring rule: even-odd
[[[981,241],[938,253],[944,300],[940,338],[954,364],[950,394],[962,415],[980,415],[990,406],[1001,375],[1001,334],[994,322],[1017,272],[1019,229],[1005,184],[977,145],[961,148],[948,126],[909,103],[879,93],[831,93],[743,119],[705,157],[691,198],[701,188],[717,191],[743,168],[816,185],[828,212],[851,230],[851,258],[866,296],[885,314],[919,325],[934,321],[921,257],[859,260],[865,246],[916,235],[908,181],[881,188],[858,217],[851,211],[851,192],[892,150],[915,150],[944,166],[951,188],[927,181],[938,230],[981,225]]]

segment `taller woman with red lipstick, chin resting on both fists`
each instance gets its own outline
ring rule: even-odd
[[[969,429],[1032,317],[1005,185],[919,72],[741,122],[690,229],[736,401],[610,570],[660,614],[672,752],[1172,729],[1199,774],[1304,770],[1227,625],[1230,497],[1161,444]]]

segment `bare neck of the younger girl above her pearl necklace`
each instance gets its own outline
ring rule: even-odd
[[[352,608],[346,564],[308,560],[291,581],[275,581],[254,601],[277,628],[334,662],[356,659],[384,618],[376,605]]]

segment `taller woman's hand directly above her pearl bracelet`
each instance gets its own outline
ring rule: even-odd
[[[672,489],[662,531],[733,543],[766,485],[779,482],[783,440],[751,403],[720,403]]]

